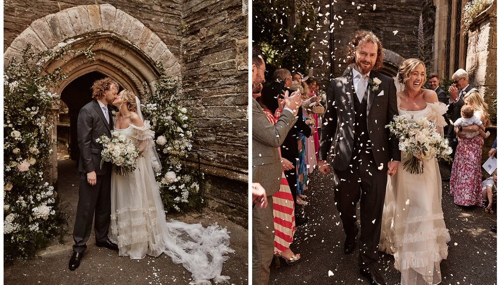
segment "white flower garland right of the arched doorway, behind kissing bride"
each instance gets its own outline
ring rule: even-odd
[[[146,92],[141,104],[145,120],[150,120],[155,131],[156,151],[162,164],[157,174],[165,211],[186,211],[197,208],[201,201],[198,174],[184,167],[182,159],[191,151],[194,133],[191,112],[181,104],[182,84],[168,77],[161,62],[157,63],[161,77],[155,84],[154,94]],[[144,90],[147,90],[144,86]]]

